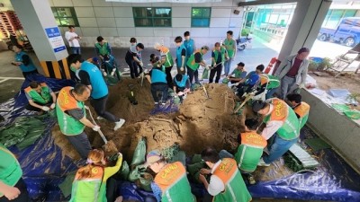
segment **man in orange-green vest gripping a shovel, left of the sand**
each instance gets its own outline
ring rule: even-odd
[[[58,92],[56,107],[61,133],[67,136],[83,159],[86,159],[91,151],[90,142],[84,132],[85,127],[91,127],[94,131],[100,129],[86,119],[84,101],[89,97],[90,89],[85,84],[77,83],[74,88],[67,86]]]

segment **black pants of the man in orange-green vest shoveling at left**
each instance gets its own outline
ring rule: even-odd
[[[91,151],[91,145],[85,132],[76,136],[67,136],[68,141],[73,145],[82,159],[87,159],[87,155]]]

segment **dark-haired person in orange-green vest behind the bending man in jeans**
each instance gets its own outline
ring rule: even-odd
[[[299,93],[290,93],[286,95],[286,102],[293,108],[299,119],[300,129],[305,126],[309,118],[310,105],[302,101],[302,95]]]

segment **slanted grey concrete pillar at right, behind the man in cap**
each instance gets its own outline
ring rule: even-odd
[[[296,54],[302,47],[312,47],[330,4],[331,0],[297,1],[278,60],[283,61],[285,57]]]

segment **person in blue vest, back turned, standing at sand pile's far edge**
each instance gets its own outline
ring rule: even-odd
[[[168,91],[165,67],[159,66],[159,58],[157,56],[151,58],[151,63],[153,64],[153,67],[147,75],[148,82],[151,83],[151,94],[155,104],[158,104],[159,99],[157,97],[157,92],[161,92],[160,103],[165,105]]]

